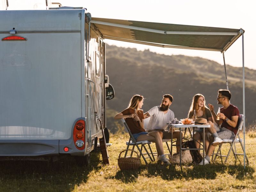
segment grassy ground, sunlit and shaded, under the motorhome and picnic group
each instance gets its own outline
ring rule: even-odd
[[[149,159],[149,165],[142,160],[136,171],[120,171],[117,158],[126,140],[127,134],[111,135],[109,165],[102,165],[100,150],[91,153],[89,167],[77,166],[73,158],[54,163],[0,162],[0,191],[256,191],[255,132],[246,134],[250,163],[245,170],[243,156],[235,162],[230,154],[224,165],[217,158],[205,166],[184,165],[183,172],[179,165],[159,165]],[[223,147],[222,154],[227,153],[228,144]]]

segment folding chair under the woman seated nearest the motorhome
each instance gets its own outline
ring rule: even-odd
[[[126,124],[125,120],[124,120],[123,118],[122,118],[121,120],[122,120],[122,122],[123,122],[123,124],[124,124],[124,126],[125,126],[126,131],[128,131],[128,133],[129,133],[129,135],[130,135],[129,141],[126,142],[126,145],[127,145],[126,150],[129,149],[130,146],[132,146],[132,150],[134,150],[134,148],[135,148],[135,146],[136,146],[137,149],[138,149],[138,151],[140,152],[140,157],[142,156],[142,158],[143,158],[143,160],[145,161],[146,164],[148,164],[148,162],[146,161],[146,158],[150,158],[151,161],[153,161],[153,159],[154,159],[154,161],[155,161],[155,158],[154,158],[152,149],[151,149],[151,147],[150,147],[151,142],[148,141],[148,140],[138,141],[138,142],[137,142],[137,141],[134,139],[134,137],[132,136],[132,133],[131,133],[131,131],[130,131],[128,125]],[[139,145],[141,145],[141,148],[139,148]],[[148,145],[148,148],[149,148],[149,150],[150,150],[150,153],[151,153],[153,159],[151,158],[150,154],[148,153],[148,150],[147,150],[147,148],[145,147],[145,145]],[[146,151],[146,153],[142,153],[142,149],[143,149],[143,148],[144,148],[144,150]],[[133,154],[133,151],[131,152],[131,156],[132,156],[132,154]],[[145,157],[144,155],[146,155],[146,154],[147,154],[148,156]],[[125,151],[124,157],[126,157],[126,156],[127,156],[127,151]]]

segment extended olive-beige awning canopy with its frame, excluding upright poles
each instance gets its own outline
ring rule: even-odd
[[[92,18],[102,38],[159,47],[225,52],[243,29]]]

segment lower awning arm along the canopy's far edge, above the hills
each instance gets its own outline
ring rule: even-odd
[[[111,39],[116,41],[124,41],[129,43],[137,43],[137,44],[144,44],[144,45],[151,45],[156,47],[164,47],[164,48],[177,48],[177,49],[194,49],[194,50],[203,50],[203,51],[219,51],[221,49],[211,49],[211,48],[201,48],[201,47],[186,47],[186,46],[178,46],[178,45],[166,45],[166,44],[157,44],[157,43],[150,43],[145,41],[136,41],[131,39],[123,39],[118,37],[110,37],[110,36],[102,36],[103,39]]]

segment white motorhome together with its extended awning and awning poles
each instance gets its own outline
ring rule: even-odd
[[[53,4],[41,0],[34,7]],[[244,29],[92,18],[84,8],[54,5],[9,11],[8,0],[2,4],[0,157],[88,160],[96,138],[104,138],[105,98],[114,97],[103,39],[220,52],[228,89],[224,53],[242,36],[245,122]]]

